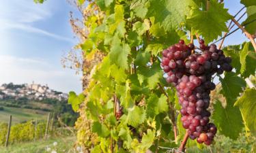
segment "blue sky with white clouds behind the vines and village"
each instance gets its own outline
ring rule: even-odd
[[[231,14],[242,6],[239,0],[225,0]],[[60,63],[61,56],[78,43],[70,27],[70,11],[78,15],[66,0],[47,0],[43,4],[33,0],[1,1],[0,84],[34,81],[62,92],[82,91],[81,75],[63,69]],[[238,30],[227,37],[225,46],[245,40]]]

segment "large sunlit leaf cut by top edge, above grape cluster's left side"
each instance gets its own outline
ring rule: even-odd
[[[190,0],[150,0],[147,17],[154,16],[155,22],[160,22],[165,31],[177,29],[188,14]]]

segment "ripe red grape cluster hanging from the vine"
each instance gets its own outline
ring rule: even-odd
[[[215,73],[231,71],[231,58],[225,57],[216,45],[205,46],[199,41],[201,52],[191,54],[194,44],[186,45],[184,40],[162,51],[161,67],[168,83],[177,89],[182,105],[182,125],[188,129],[190,139],[210,145],[216,134],[216,126],[209,122],[210,90],[216,87],[212,82]]]

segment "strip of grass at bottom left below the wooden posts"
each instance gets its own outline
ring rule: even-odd
[[[1,153],[46,153],[46,148],[51,148],[48,152],[55,150],[60,152],[75,152],[73,146],[76,141],[76,137],[57,137],[47,140],[37,140],[27,143],[16,143],[15,145],[8,146],[8,148],[0,147]],[[57,142],[57,146],[53,143]]]

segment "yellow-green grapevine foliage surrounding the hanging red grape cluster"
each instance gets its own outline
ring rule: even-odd
[[[162,79],[160,52],[179,39],[188,43],[198,35],[206,43],[214,41],[228,31],[227,22],[233,14],[216,0],[77,3],[84,32],[83,42],[76,47],[83,50],[87,79],[83,93],[70,92],[68,103],[81,114],[76,122],[79,143],[87,152],[163,152],[159,146],[177,148],[185,131],[175,90]],[[255,3],[241,3],[247,7],[245,22],[249,22],[255,15]],[[254,24],[245,28],[253,33]],[[192,40],[188,40],[190,35]],[[243,122],[252,133],[255,131],[255,116],[248,116],[253,97],[244,90],[244,80],[255,75],[255,52],[248,42],[227,46],[224,51],[232,57],[234,69],[218,75],[220,94],[225,98],[213,105],[212,119],[219,134],[237,139]],[[177,138],[171,130],[176,124]],[[188,146],[197,143],[188,141]]]

